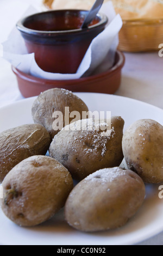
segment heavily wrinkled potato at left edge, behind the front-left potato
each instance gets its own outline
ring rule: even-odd
[[[0,182],[17,163],[33,155],[45,155],[51,143],[47,130],[27,124],[0,134]]]

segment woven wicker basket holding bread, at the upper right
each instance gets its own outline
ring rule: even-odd
[[[162,20],[123,21],[118,49],[126,52],[158,51],[163,43]]]

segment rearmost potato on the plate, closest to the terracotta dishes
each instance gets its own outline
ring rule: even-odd
[[[68,115],[73,111],[79,112],[79,119],[82,119],[82,111],[89,111],[85,103],[72,92],[59,88],[49,89],[41,93],[34,101],[32,107],[34,123],[43,125],[53,139],[61,128],[65,126],[65,107],[69,107],[68,112],[66,111]],[[54,125],[54,121],[57,119],[57,116],[54,116],[54,112],[57,113],[57,111],[63,115],[63,125],[61,128]],[[74,117],[68,118],[68,124],[73,119]]]

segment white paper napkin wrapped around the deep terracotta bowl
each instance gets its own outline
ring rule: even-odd
[[[30,7],[23,17],[37,12]],[[108,16],[108,26],[92,40],[76,74],[55,74],[39,68],[34,53],[27,53],[24,40],[16,27],[10,33],[8,40],[3,43],[3,57],[22,72],[49,80],[78,79],[104,72],[114,64],[122,19],[120,15],[116,15],[111,1],[103,4],[100,12]]]

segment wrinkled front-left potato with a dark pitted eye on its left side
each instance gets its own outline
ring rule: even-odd
[[[4,214],[17,225],[32,227],[58,212],[73,188],[68,170],[48,156],[18,163],[2,183]]]

